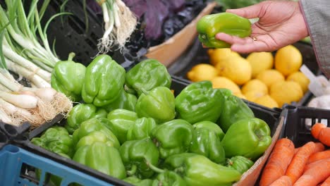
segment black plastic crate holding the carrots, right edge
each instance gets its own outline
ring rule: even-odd
[[[317,142],[310,133],[310,128],[315,123],[330,126],[330,110],[286,105],[283,106],[283,112],[286,112],[286,120],[280,138],[288,137],[295,147],[301,147],[310,141]]]

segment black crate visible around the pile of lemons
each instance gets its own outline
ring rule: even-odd
[[[310,68],[314,75],[321,75],[322,71],[319,69],[312,45],[307,44],[305,42],[297,42],[293,44],[293,46],[297,47],[301,52],[302,63],[305,64],[307,68]],[[208,49],[202,47],[202,44],[200,43],[198,38],[196,38],[194,44],[190,46],[190,49],[188,49],[185,54],[180,56],[178,60],[172,63],[171,66],[169,66],[169,73],[171,75],[175,75],[178,78],[191,82],[190,80],[188,80],[187,73],[191,70],[191,68],[193,68],[193,66],[197,64],[209,63],[209,56],[207,54],[207,50]],[[246,57],[247,55],[241,54],[241,56]],[[292,104],[296,106],[305,106],[308,104],[310,99],[312,99],[312,97],[312,92],[308,90],[305,93],[304,97],[300,99],[300,101],[294,102]]]

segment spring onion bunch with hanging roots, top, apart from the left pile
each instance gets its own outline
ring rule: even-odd
[[[121,0],[95,0],[102,7],[104,35],[99,39],[99,52],[107,53],[114,46],[124,49],[138,20]]]

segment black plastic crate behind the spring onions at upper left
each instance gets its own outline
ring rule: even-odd
[[[50,1],[47,7],[47,13],[42,18],[45,23],[51,16],[60,12],[64,0]],[[87,6],[85,11],[82,1],[71,0],[63,6],[64,11],[72,15],[59,16],[51,21],[47,30],[49,44],[52,45],[55,40],[55,51],[61,60],[66,60],[68,54],[75,53],[73,60],[87,66],[92,59],[97,56],[97,43],[103,35],[102,18],[99,18]],[[87,18],[87,20],[85,20]],[[117,63],[123,66],[130,66],[134,63],[129,56],[123,56],[120,51],[110,51],[109,56],[114,58]]]

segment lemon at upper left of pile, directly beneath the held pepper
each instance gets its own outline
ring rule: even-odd
[[[223,61],[229,56],[240,56],[236,51],[231,51],[231,49],[209,49],[207,51],[209,54],[209,61],[212,65],[216,66],[217,63]]]

